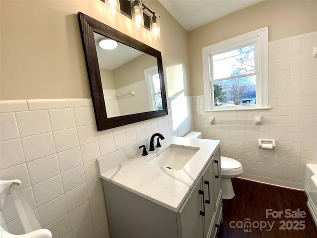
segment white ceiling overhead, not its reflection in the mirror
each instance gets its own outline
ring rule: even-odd
[[[159,0],[186,31],[261,1],[263,0]]]

